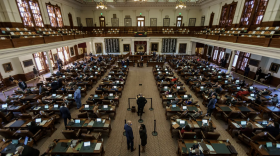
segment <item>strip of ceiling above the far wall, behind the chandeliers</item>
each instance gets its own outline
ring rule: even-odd
[[[103,0],[73,0],[84,7],[93,7]],[[200,7],[210,2],[220,0],[182,0],[186,2],[187,7]],[[106,0],[108,9],[117,7],[175,7],[177,0],[146,0],[145,2],[134,0]]]

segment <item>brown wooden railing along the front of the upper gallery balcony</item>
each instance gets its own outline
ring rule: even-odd
[[[162,33],[162,32],[153,32],[148,33],[148,37],[197,37],[217,41],[233,42],[233,43],[242,43],[250,44],[263,47],[274,47],[280,48],[280,38],[256,38],[256,37],[241,37],[241,36],[222,36],[222,35],[206,35],[206,34],[182,34],[179,32],[174,33]],[[0,49],[7,48],[18,48],[23,46],[46,44],[58,41],[67,41],[87,37],[134,37],[134,34],[131,33],[119,33],[119,34],[82,34],[82,35],[65,35],[65,36],[44,36],[37,38],[14,38],[14,39],[5,39],[0,40]]]

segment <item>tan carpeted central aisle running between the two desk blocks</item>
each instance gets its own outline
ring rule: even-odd
[[[142,86],[139,86],[142,84]],[[150,100],[144,108],[142,119],[146,125],[148,141],[146,152],[141,153],[143,156],[172,156],[175,155],[177,149],[176,139],[172,139],[170,134],[169,120],[165,120],[165,109],[162,107],[159,91],[157,90],[152,67],[129,67],[128,79],[120,99],[120,105],[117,108],[116,119],[112,121],[112,132],[110,138],[105,137],[105,155],[106,156],[138,156],[140,137],[138,123],[139,117],[137,113],[127,111],[128,98],[135,98],[137,94],[143,93],[146,98],[153,98],[153,111],[150,111]],[[130,100],[131,106],[136,106],[136,100]],[[132,129],[134,133],[134,147],[136,151],[127,150],[126,137],[123,136],[124,120],[132,121]],[[154,128],[154,120],[156,120],[156,131],[158,136],[152,136]]]

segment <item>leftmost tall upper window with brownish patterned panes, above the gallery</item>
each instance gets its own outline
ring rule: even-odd
[[[26,27],[44,27],[37,0],[17,0],[19,13]]]

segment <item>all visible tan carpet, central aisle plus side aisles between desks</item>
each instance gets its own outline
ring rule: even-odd
[[[107,75],[107,74],[105,74]],[[100,81],[97,83],[99,84]],[[140,86],[139,84],[142,84]],[[84,104],[88,96],[94,93],[97,85],[90,91],[88,91],[87,96],[83,98],[82,103]],[[188,87],[188,93],[194,95],[192,91]],[[152,74],[152,67],[130,67],[128,79],[124,87],[124,91],[122,93],[122,97],[120,99],[120,105],[117,108],[117,115],[115,120],[112,120],[112,132],[110,137],[108,138],[106,133],[103,135],[104,139],[104,149],[106,156],[136,156],[138,155],[138,146],[140,144],[140,137],[138,132],[138,123],[139,117],[137,113],[132,113],[131,111],[127,111],[128,108],[128,99],[130,99],[130,107],[136,106],[135,97],[137,94],[143,93],[146,98],[152,98],[153,103],[153,111],[150,111],[149,108],[151,106],[150,100],[148,100],[147,105],[144,108],[144,114],[142,119],[144,120],[144,124],[147,127],[147,135],[148,135],[148,143],[146,147],[146,152],[141,153],[141,155],[145,156],[175,156],[177,151],[177,140],[178,140],[178,132],[174,131],[174,137],[171,137],[170,134],[170,121],[165,118],[165,108],[162,107],[161,98],[159,96],[159,91],[157,90],[155,80]],[[205,107],[201,104],[202,99],[196,98],[194,96],[195,101],[199,101],[201,108],[204,112],[206,112]],[[72,108],[71,110],[72,117],[76,117],[78,114],[78,110]],[[134,146],[136,146],[136,151],[130,152],[127,150],[126,145],[126,137],[123,136],[124,131],[124,121],[131,120],[132,128],[134,132]],[[156,131],[158,132],[158,136],[152,136],[152,131],[154,129],[154,121],[156,120]],[[216,125],[218,131],[221,134],[219,139],[229,139],[229,141],[233,144],[235,149],[238,151],[239,155],[246,155],[246,152],[249,152],[249,147],[245,147],[240,143],[236,143],[236,139],[231,138],[228,132],[225,130],[227,125],[222,120],[212,119],[214,124]],[[51,137],[46,137],[39,141],[35,148],[38,148],[41,153],[43,153],[48,145],[54,139],[64,138],[61,134],[61,131],[64,129],[63,121],[61,119],[61,124],[55,125],[57,130]]]

